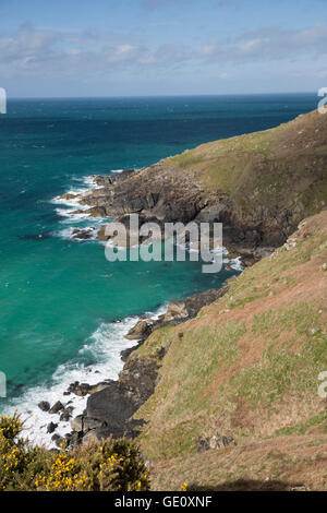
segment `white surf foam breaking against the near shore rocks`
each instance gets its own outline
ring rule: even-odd
[[[146,317],[158,317],[166,312],[167,305],[160,307],[155,312],[146,312]],[[140,320],[136,315],[126,317],[121,321],[101,323],[98,329],[85,341],[80,349],[80,355],[90,356],[95,361],[92,366],[78,362],[66,362],[60,365],[52,374],[52,383],[49,386],[39,385],[28,389],[22,396],[12,402],[7,409],[7,415],[12,415],[15,410],[21,414],[22,419],[26,419],[24,437],[37,444],[53,448],[51,440],[53,433],[47,433],[47,426],[50,422],[58,423],[56,433],[64,437],[71,431],[70,422],[60,421],[60,414],[50,415],[38,407],[38,403],[46,401],[52,406],[60,401],[63,406],[72,406],[72,417],[81,415],[88,396],[80,397],[75,394],[64,395],[71,383],[97,384],[106,380],[116,380],[122,370],[123,361],[120,353],[137,345],[137,341],[128,341],[124,335]]]

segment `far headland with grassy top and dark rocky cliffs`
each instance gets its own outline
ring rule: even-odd
[[[98,180],[104,187],[82,200],[92,215],[220,222],[228,248],[261,256],[327,204],[327,116],[313,111]]]

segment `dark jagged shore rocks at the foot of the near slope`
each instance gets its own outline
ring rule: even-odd
[[[135,341],[137,344],[121,351],[124,366],[117,381],[105,380],[95,385],[74,382],[64,392],[64,397],[53,405],[45,401],[40,402],[38,407],[49,415],[47,432],[52,434],[52,442],[59,446],[63,442],[66,445],[74,445],[108,437],[135,438],[143,422],[142,420],[135,421],[131,417],[154,393],[160,380],[160,361],[169,350],[169,343],[152,357],[140,356],[136,349],[155,330],[167,325],[178,325],[195,318],[203,307],[221,298],[227,290],[228,286],[223,286],[218,290],[210,289],[195,294],[185,300],[173,300],[169,303],[166,314],[157,318],[141,318],[125,334],[125,338]],[[73,395],[87,397],[85,410],[76,417],[74,417],[70,399]],[[53,421],[51,416],[56,414],[59,419]],[[56,431],[61,421],[68,420],[71,432],[62,437]]]

